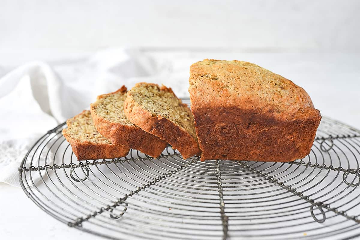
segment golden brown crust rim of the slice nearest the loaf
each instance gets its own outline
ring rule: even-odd
[[[136,84],[135,87],[138,87],[139,84]],[[171,88],[165,86],[160,88],[157,84],[149,85],[156,86],[163,91],[172,92]],[[161,115],[152,116],[150,112],[134,101],[130,91],[127,92],[124,111],[131,123],[170,143],[172,148],[177,149],[185,159],[200,153],[196,139],[165,117]]]

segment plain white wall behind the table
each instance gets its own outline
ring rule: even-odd
[[[1,1],[1,51],[108,46],[359,51],[360,3]]]

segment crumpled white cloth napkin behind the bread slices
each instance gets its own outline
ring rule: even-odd
[[[155,61],[134,49],[108,49],[71,63],[32,62],[14,69],[0,79],[0,182],[19,186],[18,167],[32,144],[88,109],[100,94],[123,84],[130,88],[136,82],[155,82],[186,96],[188,66],[173,71],[170,61]]]

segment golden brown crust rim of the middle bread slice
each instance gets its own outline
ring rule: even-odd
[[[122,92],[126,94],[126,87],[122,86],[119,90],[113,92]],[[98,99],[107,97],[113,93],[98,96]],[[108,138],[114,144],[121,144],[125,147],[137,149],[149,156],[157,158],[166,148],[167,143],[158,137],[141,130],[135,125],[125,125],[114,123],[109,119],[96,114],[95,105],[90,105],[91,116],[93,117],[96,129],[104,137]]]

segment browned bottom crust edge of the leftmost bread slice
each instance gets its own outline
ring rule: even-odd
[[[125,157],[129,148],[115,144],[92,144],[68,139],[77,160],[108,159]]]

